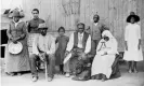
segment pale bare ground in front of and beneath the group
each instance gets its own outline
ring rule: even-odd
[[[128,73],[127,64],[120,66],[121,76],[106,82],[90,80],[87,82],[73,81],[70,77],[55,75],[52,82],[44,80],[44,73],[39,73],[39,81],[31,82],[30,73],[22,76],[8,76],[1,66],[1,86],[144,86],[144,62],[139,62],[139,73]]]

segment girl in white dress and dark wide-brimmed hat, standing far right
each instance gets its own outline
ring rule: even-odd
[[[123,59],[129,63],[129,73],[136,71],[136,61],[143,60],[141,47],[141,27],[136,23],[140,17],[135,14],[129,15],[127,22],[129,23],[125,29],[125,56]]]

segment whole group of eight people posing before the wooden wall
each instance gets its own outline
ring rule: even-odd
[[[38,81],[39,63],[44,62],[48,70],[48,81],[54,78],[55,66],[60,66],[60,72],[73,80],[102,80],[110,78],[112,66],[118,54],[118,43],[109,29],[101,24],[100,16],[93,16],[93,25],[90,33],[84,31],[83,23],[77,24],[77,30],[68,38],[65,28],[60,27],[56,40],[48,33],[48,27],[43,19],[39,18],[39,10],[31,11],[34,18],[28,25],[19,19],[19,13],[13,12],[13,20],[6,31],[8,45],[21,42],[23,51],[18,54],[9,53],[5,49],[5,72],[9,75],[21,75],[22,71],[31,71],[31,80]],[[143,60],[141,48],[141,28],[138,25],[140,17],[133,12],[128,16],[128,26],[125,32],[126,51],[123,59],[129,61],[129,72],[136,71],[136,61]],[[40,32],[32,42],[32,54],[29,56],[27,37],[29,33]],[[56,48],[56,44],[58,44]],[[71,55],[66,62],[64,60]]]

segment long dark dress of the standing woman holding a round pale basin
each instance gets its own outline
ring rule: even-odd
[[[29,55],[27,47],[27,32],[26,25],[24,22],[18,23],[15,27],[14,22],[10,23],[10,28],[6,31],[9,37],[8,45],[10,42],[10,38],[19,38],[17,41],[23,44],[23,51],[19,54],[13,55],[8,52],[8,46],[5,49],[5,72],[21,72],[21,71],[29,71]]]

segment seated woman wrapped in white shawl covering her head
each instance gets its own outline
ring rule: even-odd
[[[92,80],[106,81],[110,77],[112,66],[118,52],[117,41],[110,31],[103,31],[102,38],[103,39],[99,42],[96,55],[92,62],[91,75]]]

